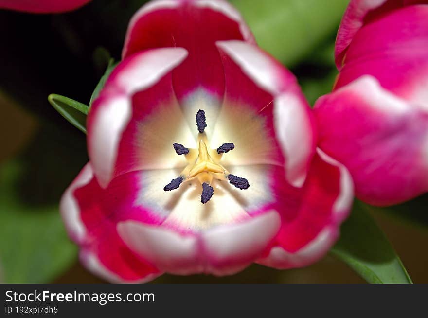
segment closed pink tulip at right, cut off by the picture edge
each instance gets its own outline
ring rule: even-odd
[[[427,192],[428,1],[351,1],[336,62],[335,88],[315,106],[321,149],[349,169],[363,201]]]

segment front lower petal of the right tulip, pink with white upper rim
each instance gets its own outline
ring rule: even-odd
[[[320,147],[350,171],[357,197],[374,205],[428,190],[428,112],[363,76],[315,106]]]

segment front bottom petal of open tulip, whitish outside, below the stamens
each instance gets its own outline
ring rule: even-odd
[[[135,221],[118,224],[121,237],[131,249],[162,271],[180,275],[230,275],[242,270],[266,250],[278,228],[276,212],[199,234],[179,234]]]

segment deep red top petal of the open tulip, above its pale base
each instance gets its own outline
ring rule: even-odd
[[[189,57],[173,76],[178,100],[182,102],[197,88],[221,100],[224,72],[215,41],[229,39],[254,43],[250,29],[227,1],[152,1],[131,19],[122,55],[125,58],[150,48],[183,47]]]

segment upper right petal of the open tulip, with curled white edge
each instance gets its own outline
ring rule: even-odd
[[[234,129],[231,135],[243,140],[242,148],[236,148],[225,159],[235,164],[285,162],[288,181],[301,186],[315,152],[316,138],[309,105],[295,77],[270,55],[248,43],[220,41],[217,46],[223,58],[226,94],[216,124],[225,127],[216,130]],[[253,124],[239,121],[240,126],[227,124],[246,113],[260,120]],[[225,137],[213,139],[222,138]]]

